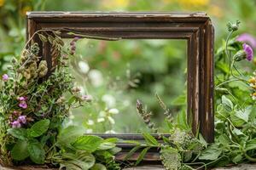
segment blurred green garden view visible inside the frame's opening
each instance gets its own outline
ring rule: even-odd
[[[80,39],[71,73],[81,93],[93,99],[91,105],[73,110],[70,123],[83,125],[87,133],[150,132],[137,113],[140,99],[152,111],[152,122],[169,133],[155,94],[172,116],[187,110],[186,45],[173,39]]]

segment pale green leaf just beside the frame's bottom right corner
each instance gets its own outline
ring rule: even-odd
[[[201,156],[199,156],[200,160],[216,160],[218,156],[221,154],[221,150],[218,147],[218,144],[210,145],[206,150],[203,150]]]

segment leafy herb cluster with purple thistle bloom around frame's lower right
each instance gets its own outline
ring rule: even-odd
[[[156,95],[164,109],[166,123],[170,127],[170,136],[158,132],[151,122],[151,112],[146,111],[140,101],[137,111],[143,121],[163,140],[159,143],[148,133],[143,136],[146,144],[138,144],[134,150],[145,147],[141,156],[151,147],[160,150],[160,158],[166,169],[201,169],[224,167],[241,162],[256,161],[256,73],[248,61],[253,60],[253,48],[244,42],[231,39],[239,28],[239,21],[228,24],[229,35],[215,54],[216,67],[216,111],[215,141],[207,144],[200,133],[191,133],[186,116],[183,113],[172,118],[166,105]],[[238,39],[241,39],[239,37]],[[242,38],[244,39],[244,38]],[[245,39],[246,41],[247,39]],[[238,66],[243,69],[239,69]],[[252,73],[253,72],[253,73]],[[140,160],[138,160],[140,161]]]

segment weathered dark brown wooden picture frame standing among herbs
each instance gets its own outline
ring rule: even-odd
[[[68,31],[84,35],[122,39],[186,39],[188,42],[188,120],[195,133],[212,142],[213,124],[213,26],[205,13],[80,13],[28,12],[26,38],[38,30]],[[101,39],[101,38],[100,38]],[[40,43],[51,67],[49,43]],[[137,134],[102,135],[120,139],[143,139]],[[120,144],[130,150],[130,144]],[[154,151],[153,151],[154,154]],[[149,154],[150,155],[150,154]],[[121,157],[120,157],[121,159]],[[154,161],[155,156],[148,156]]]

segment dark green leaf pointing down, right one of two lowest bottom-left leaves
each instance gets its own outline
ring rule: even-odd
[[[28,144],[28,153],[30,159],[37,164],[44,164],[45,151],[42,144],[37,140],[30,141]]]

